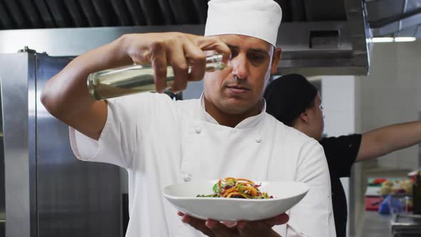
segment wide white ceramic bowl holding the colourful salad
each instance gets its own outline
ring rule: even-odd
[[[163,188],[163,196],[178,211],[201,219],[216,221],[258,221],[285,213],[298,203],[310,187],[300,182],[255,182],[262,183],[260,191],[274,198],[197,198],[198,194],[213,193],[216,181],[206,183],[178,183]]]

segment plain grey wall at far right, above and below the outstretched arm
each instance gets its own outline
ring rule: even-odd
[[[421,111],[421,41],[375,44],[370,75],[361,81],[362,131],[417,120]],[[412,146],[377,160],[384,168],[413,169],[418,148]]]

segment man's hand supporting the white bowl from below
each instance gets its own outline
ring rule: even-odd
[[[203,221],[198,218],[187,216],[184,213],[178,212],[178,216],[182,216],[182,221],[188,223],[196,230],[211,237],[225,237],[225,236],[242,236],[242,237],[280,237],[278,233],[273,231],[272,227],[276,225],[283,225],[288,222],[288,215],[283,213],[273,218],[268,218],[262,221],[238,221],[230,223],[220,223],[219,221]]]

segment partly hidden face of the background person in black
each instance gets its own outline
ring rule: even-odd
[[[322,99],[320,94],[315,96],[313,101],[314,106],[308,109],[308,115],[310,117],[311,136],[316,140],[320,141],[323,135],[323,129],[325,127],[325,121],[323,116]]]

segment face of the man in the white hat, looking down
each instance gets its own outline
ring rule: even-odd
[[[207,101],[225,114],[245,114],[257,107],[270,73],[276,72],[280,49],[262,39],[235,34],[220,36],[230,47],[228,67],[206,73],[204,94]]]

